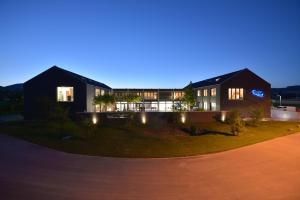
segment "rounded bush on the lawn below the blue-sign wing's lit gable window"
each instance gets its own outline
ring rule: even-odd
[[[230,126],[231,133],[234,135],[239,135],[245,128],[245,123],[238,110],[229,112],[227,122]]]

